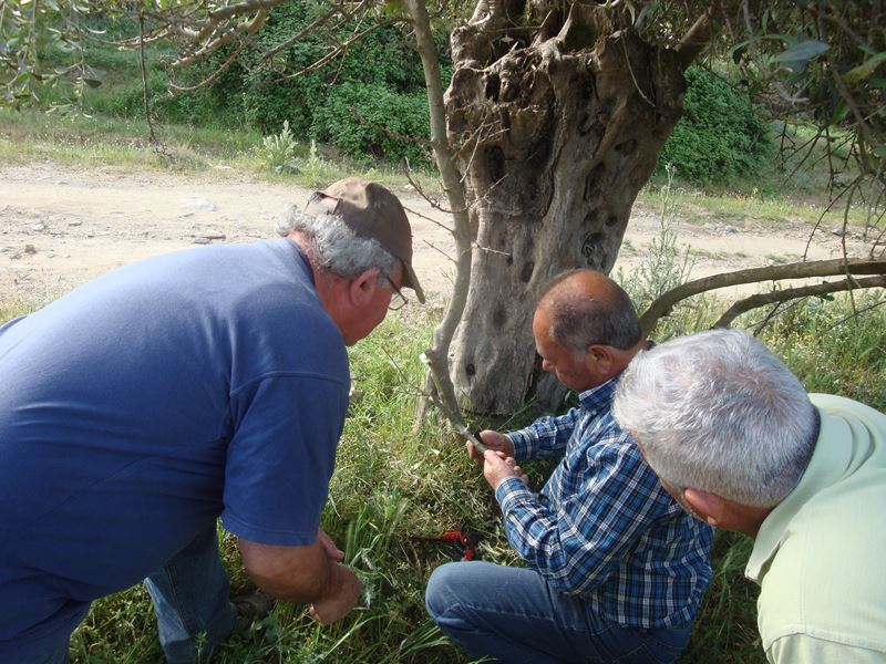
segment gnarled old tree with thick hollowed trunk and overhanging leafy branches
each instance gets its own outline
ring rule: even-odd
[[[308,11],[308,22],[275,29],[284,22],[274,17],[292,11]],[[110,39],[91,25],[97,15],[134,21],[122,46],[171,44],[178,90],[212,85],[233,68],[264,85],[296,81],[401,27],[422,63],[430,145],[459,247],[429,362],[451,408],[508,412],[529,394],[548,405],[562,394],[534,363],[525,323],[535,295],[564,269],[611,269],[693,63],[718,75],[725,63],[730,84],[781,121],[777,142],[796,168],[824,159],[832,206],[846,218],[864,207],[866,232],[884,247],[885,11],[853,1],[7,0],[0,80],[8,105],[53,83],[70,85],[75,102],[101,84],[83,50]],[[432,25],[452,29],[447,81]],[[52,50],[64,64],[47,58]],[[381,98],[377,84],[338,91],[326,122],[358,107],[360,95]],[[801,137],[797,124],[814,132]]]

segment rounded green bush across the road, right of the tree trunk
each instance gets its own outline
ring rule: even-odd
[[[683,116],[659,154],[683,179],[727,183],[752,178],[765,167],[772,142],[761,110],[721,77],[698,68],[686,72]]]

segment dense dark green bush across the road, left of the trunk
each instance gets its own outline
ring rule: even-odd
[[[281,44],[320,11],[326,8],[313,2],[276,9],[259,35],[262,46]],[[336,39],[347,41],[356,28],[342,25]],[[416,147],[429,136],[424,77],[408,41],[400,29],[383,27],[341,58],[298,75],[293,74],[328,53],[322,35],[307,34],[270,61],[247,49],[213,85],[213,98],[219,100],[218,110],[265,133],[288,122],[296,135],[330,143],[352,156],[426,163],[424,151]],[[439,43],[444,71],[451,75],[445,35]]]

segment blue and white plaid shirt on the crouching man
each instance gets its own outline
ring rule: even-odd
[[[711,580],[711,528],[661,487],[611,414],[618,376],[580,406],[509,432],[515,458],[563,457],[539,494],[518,478],[495,497],[512,548],[548,587],[631,627],[689,625]]]

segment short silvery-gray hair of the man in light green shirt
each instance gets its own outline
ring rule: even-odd
[[[800,381],[739,330],[673,339],[637,355],[612,413],[677,488],[773,507],[800,481],[817,415]]]

